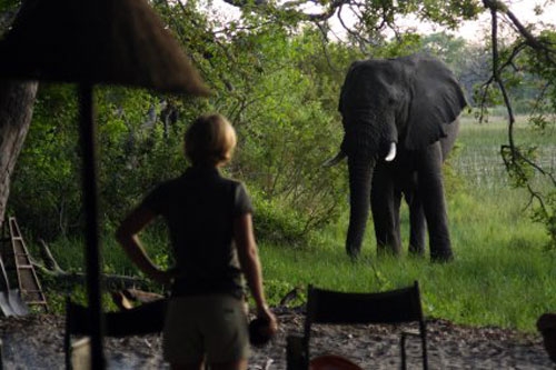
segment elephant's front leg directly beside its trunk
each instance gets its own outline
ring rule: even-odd
[[[375,223],[378,254],[400,254],[399,206],[401,192],[388,170],[378,164],[373,177],[370,208]]]

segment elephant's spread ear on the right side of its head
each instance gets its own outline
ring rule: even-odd
[[[411,90],[405,146],[425,148],[446,137],[444,127],[467,106],[456,77],[441,61],[428,56],[407,59]]]

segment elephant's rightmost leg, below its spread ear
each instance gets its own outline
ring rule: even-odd
[[[430,259],[434,261],[451,260],[440,143],[436,142],[420,152],[417,166],[419,196],[428,228]]]

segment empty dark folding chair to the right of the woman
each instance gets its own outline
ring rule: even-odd
[[[420,338],[423,368],[428,369],[427,333],[423,316],[419,284],[374,293],[350,293],[315,288],[309,284],[304,336],[287,338],[287,369],[308,369],[309,342],[314,323],[418,323],[418,330],[404,330],[400,337],[401,368],[406,369],[406,339]]]

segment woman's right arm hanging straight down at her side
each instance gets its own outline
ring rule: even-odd
[[[246,213],[234,220],[234,237],[238,249],[239,263],[247,278],[249,289],[257,304],[257,317],[269,320],[272,333],[278,324],[276,317],[268,309],[262,289],[262,272],[257,243],[252,231],[251,214]]]

